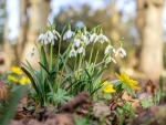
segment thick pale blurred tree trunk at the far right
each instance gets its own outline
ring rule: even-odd
[[[145,0],[143,7],[144,24],[139,67],[147,77],[157,79],[163,72],[162,14],[164,0]]]

